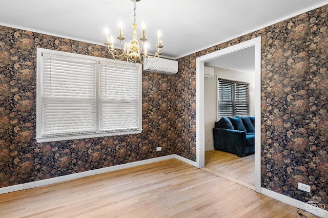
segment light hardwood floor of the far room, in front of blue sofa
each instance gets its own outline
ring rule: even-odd
[[[254,154],[238,157],[236,154],[211,150],[205,152],[205,170],[254,189]]]

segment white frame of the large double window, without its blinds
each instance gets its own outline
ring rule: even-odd
[[[44,136],[44,111],[43,111],[43,61],[42,55],[46,53],[48,55],[61,56],[64,58],[78,58],[80,60],[86,61],[95,61],[95,102],[96,102],[96,121],[95,121],[95,133],[74,133],[74,134],[60,134],[54,136]],[[100,64],[110,63],[121,67],[129,67],[134,69],[138,75],[135,79],[137,81],[138,90],[136,90],[138,96],[138,105],[135,112],[137,126],[133,129],[124,129],[116,131],[100,131]],[[91,137],[104,137],[104,136],[113,136],[113,135],[126,135],[126,134],[138,134],[142,131],[142,65],[141,64],[131,64],[124,61],[117,61],[103,57],[95,57],[83,54],[75,54],[63,51],[55,51],[44,48],[36,49],[36,142],[54,142],[54,141],[64,141],[64,140],[77,140],[81,138],[91,138]]]

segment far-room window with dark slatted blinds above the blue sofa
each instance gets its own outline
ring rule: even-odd
[[[249,83],[218,78],[218,119],[223,116],[249,116]]]

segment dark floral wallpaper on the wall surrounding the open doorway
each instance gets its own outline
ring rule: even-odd
[[[328,6],[180,58],[177,104],[195,125],[196,57],[261,36],[262,187],[328,209]],[[177,106],[179,107],[179,105]],[[185,114],[182,111],[191,111]],[[182,114],[185,114],[184,116]],[[195,132],[188,126],[183,131]],[[195,139],[193,139],[195,140]],[[194,141],[177,140],[178,154],[195,155]],[[179,147],[180,146],[180,147]],[[298,190],[311,185],[311,193]]]

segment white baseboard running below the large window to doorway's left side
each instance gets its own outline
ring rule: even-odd
[[[0,194],[29,189],[29,188],[35,188],[35,187],[40,187],[40,186],[45,186],[45,185],[51,185],[51,184],[65,182],[65,181],[69,181],[69,180],[75,180],[75,179],[79,179],[79,178],[90,176],[90,175],[97,175],[100,173],[111,172],[114,170],[126,169],[129,167],[135,167],[135,166],[155,163],[155,162],[159,162],[159,161],[165,161],[165,160],[169,160],[172,158],[176,158],[182,162],[185,162],[192,166],[196,166],[196,162],[190,161],[187,158],[179,156],[177,154],[172,154],[172,155],[167,155],[167,156],[155,157],[155,158],[151,158],[151,159],[143,160],[143,161],[136,161],[136,162],[121,164],[121,165],[117,165],[117,166],[105,167],[105,168],[100,168],[100,169],[95,169],[95,170],[89,170],[86,172],[78,172],[78,173],[74,173],[74,174],[58,176],[58,177],[30,182],[30,183],[3,187],[3,188],[0,188]]]

